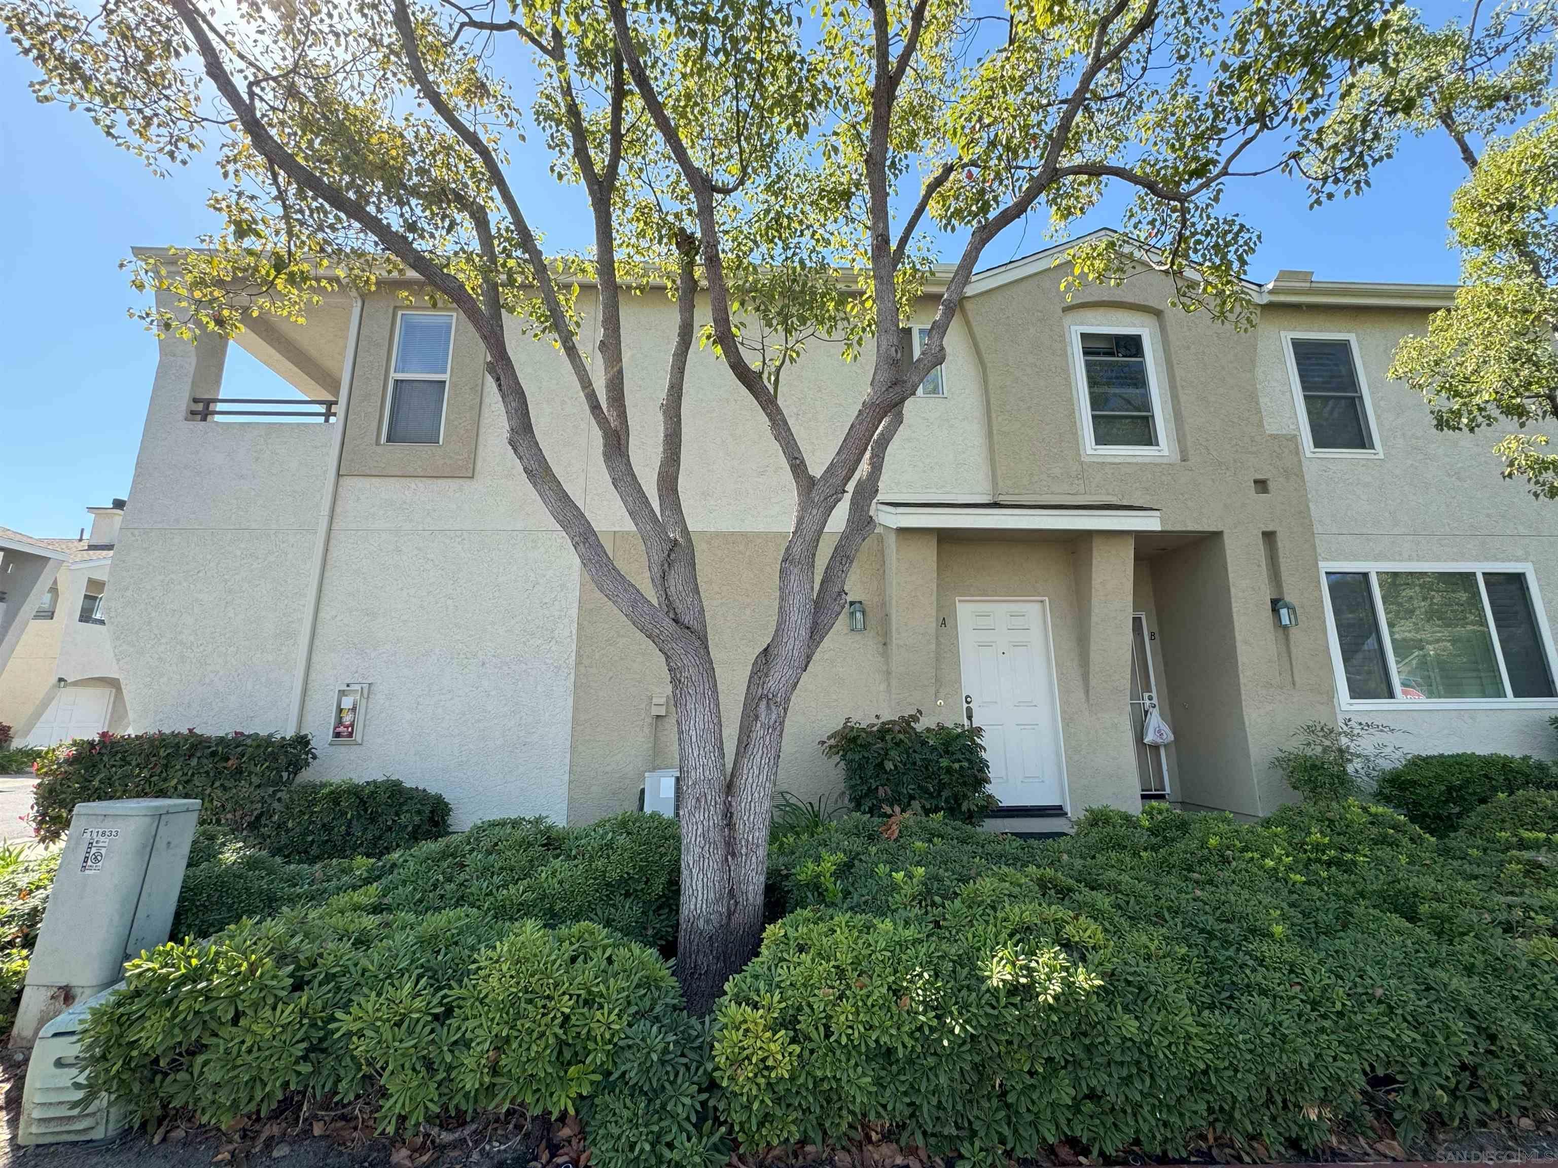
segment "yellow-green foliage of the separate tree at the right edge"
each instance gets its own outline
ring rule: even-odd
[[[1538,498],[1558,498],[1558,455],[1541,433],[1558,420],[1555,23],[1552,0],[1472,5],[1438,28],[1407,12],[1334,121],[1348,148],[1369,140],[1379,154],[1402,132],[1443,132],[1466,165],[1449,216],[1455,302],[1401,341],[1390,375],[1422,394],[1440,430],[1513,425],[1493,452]]]

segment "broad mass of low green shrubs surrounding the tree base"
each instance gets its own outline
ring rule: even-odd
[[[665,961],[675,822],[497,821],[293,866],[315,883],[274,917],[136,962],[89,1076],[148,1120],[304,1093],[402,1134],[575,1113],[603,1165],[1413,1148],[1558,1098],[1555,855],[1549,791],[1443,839],[1349,799],[1100,810],[1053,841],[815,821],[776,839],[763,947],[698,1022]]]

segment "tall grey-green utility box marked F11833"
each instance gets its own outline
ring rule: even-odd
[[[31,1047],[50,1018],[101,994],[168,939],[198,799],[76,804],[11,1031]]]

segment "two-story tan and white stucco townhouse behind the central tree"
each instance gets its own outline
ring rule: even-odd
[[[1491,439],[1435,433],[1385,378],[1452,290],[1284,273],[1235,332],[1167,307],[1151,274],[1067,296],[1058,255],[975,277],[946,366],[908,403],[849,581],[865,629],[841,620],[801,684],[781,790],[837,786],[818,740],[846,715],[915,709],[985,727],[1010,827],[1142,799],[1270,813],[1292,799],[1271,755],[1338,709],[1401,726],[1408,749],[1547,754],[1539,584],[1558,598],[1558,509],[1499,480]],[[623,315],[645,459],[675,308],[651,294]],[[394,287],[254,325],[238,344],[290,383],[285,405],[221,403],[221,338],[160,343],[115,561],[134,727],[308,730],[316,774],[436,788],[460,824],[636,805],[643,774],[676,762],[665,668],[530,491],[469,329]],[[517,339],[516,360],[556,472],[642,581],[561,355]],[[787,372],[813,461],[869,372],[829,352]],[[686,413],[734,735],[793,494],[707,354]],[[1176,734],[1164,749],[1140,744],[1153,698]]]

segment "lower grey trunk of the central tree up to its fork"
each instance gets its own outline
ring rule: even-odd
[[[768,819],[788,701],[762,702],[757,732],[728,772],[714,663],[673,676],[671,693],[682,833],[676,980],[687,1009],[703,1017],[762,941]]]

